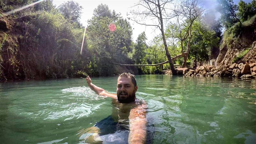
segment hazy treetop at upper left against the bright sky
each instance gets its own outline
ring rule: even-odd
[[[77,2],[73,0],[61,4],[59,7],[60,13],[64,16],[65,19],[79,24],[79,19],[82,13],[82,6],[79,6]]]

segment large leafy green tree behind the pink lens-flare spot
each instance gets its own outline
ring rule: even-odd
[[[110,23],[116,25],[116,30],[111,32]],[[130,23],[111,12],[107,5],[100,4],[94,9],[93,17],[88,20],[87,27],[88,48],[95,54],[99,75],[110,75],[114,66],[110,61],[129,61],[127,53],[131,51],[132,27]]]

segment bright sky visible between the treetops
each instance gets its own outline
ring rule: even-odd
[[[68,1],[68,0],[53,0],[53,4],[56,5],[56,7],[58,7],[60,4],[64,3],[65,1]],[[83,7],[80,21],[85,27],[87,27],[88,25],[87,20],[92,18],[93,10],[97,8],[97,6],[101,3],[107,4],[108,8],[111,11],[115,10],[116,13],[121,13],[121,16],[123,18],[127,18],[128,16],[126,14],[127,13],[129,14],[131,10],[136,9],[137,7],[132,7],[132,6],[134,6],[135,3],[139,2],[138,0],[74,0],[74,1]],[[207,11],[216,12],[215,10],[215,6],[217,4],[216,0],[199,0],[199,2],[201,6],[204,7],[205,12]],[[237,4],[239,0],[236,0],[234,2]],[[220,13],[216,12],[215,16],[218,18],[220,16]],[[133,28],[132,39],[134,42],[136,41],[139,34],[142,33],[143,31],[145,31],[145,34],[148,38],[147,43],[153,40],[155,36],[161,33],[159,29],[155,30],[156,27],[140,25],[133,22],[132,20],[129,20],[129,22]],[[145,21],[145,23],[147,22],[150,22],[150,20]]]

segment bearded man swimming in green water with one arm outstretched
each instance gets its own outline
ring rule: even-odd
[[[115,133],[117,130],[126,129],[130,131],[128,143],[145,143],[147,105],[135,96],[138,89],[135,76],[130,73],[120,74],[117,79],[116,94],[109,93],[92,84],[89,76],[87,76],[86,81],[88,86],[98,95],[112,98],[113,109],[111,116],[85,130],[87,133],[92,133],[86,138],[85,142],[102,142],[101,135],[108,135],[109,133]],[[113,128],[113,125],[115,128]]]

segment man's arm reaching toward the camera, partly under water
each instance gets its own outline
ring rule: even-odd
[[[143,103],[130,111],[129,125],[130,133],[129,144],[144,144],[147,134],[146,120],[147,104]]]

